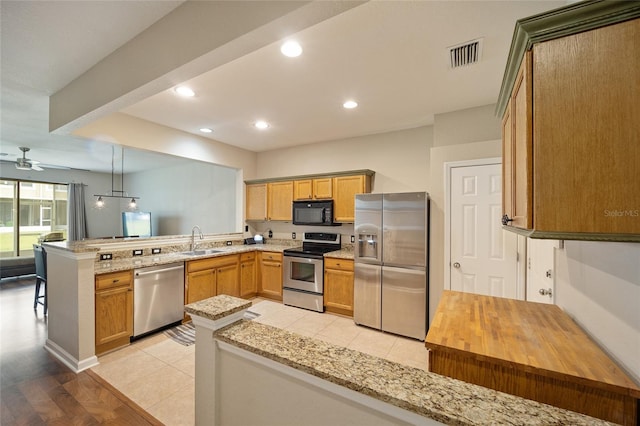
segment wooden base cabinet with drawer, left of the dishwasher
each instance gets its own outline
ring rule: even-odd
[[[132,271],[95,278],[96,355],[129,344],[133,335]]]

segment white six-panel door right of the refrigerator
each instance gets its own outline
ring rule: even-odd
[[[517,234],[502,230],[502,166],[453,167],[451,290],[518,298]]]

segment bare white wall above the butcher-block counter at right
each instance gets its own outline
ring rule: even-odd
[[[556,304],[640,383],[640,244],[565,241]]]

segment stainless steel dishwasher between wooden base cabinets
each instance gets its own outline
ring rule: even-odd
[[[181,321],[184,262],[133,271],[133,337]]]

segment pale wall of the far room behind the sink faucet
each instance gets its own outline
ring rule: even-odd
[[[130,173],[127,190],[140,194],[138,209],[151,212],[153,235],[239,232],[236,170],[201,161]],[[240,213],[241,214],[241,213]]]

